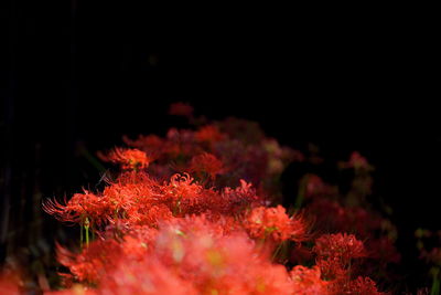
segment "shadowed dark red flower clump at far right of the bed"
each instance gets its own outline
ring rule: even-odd
[[[316,167],[323,160],[318,157],[316,150],[305,157],[305,162]],[[313,170],[313,169],[312,169]],[[319,169],[315,169],[320,171]],[[370,206],[374,167],[359,152],[353,152],[347,161],[341,161],[335,166],[340,177],[351,176],[351,181],[345,187],[327,183],[321,176],[306,170],[299,177],[298,196],[294,208],[304,210],[304,218],[312,226],[312,232],[320,233],[314,243],[304,244],[301,250],[293,250],[292,263],[311,263],[313,254],[316,254],[316,264],[321,266],[322,275],[333,278],[355,275],[373,276],[392,284],[395,275],[389,271],[390,265],[400,260],[395,247],[397,230],[388,220],[387,210],[375,210]],[[343,235],[342,235],[343,234]],[[327,236],[327,240],[323,240]],[[334,243],[347,240],[358,241],[363,245],[363,259],[351,262],[351,273],[337,259],[337,261],[324,260],[319,251],[320,245],[327,241],[324,249],[336,246]],[[349,243],[349,240],[347,242]],[[363,242],[363,243],[362,243]],[[353,243],[353,242],[351,242]],[[323,247],[323,246],[322,246]],[[345,246],[341,247],[346,249]],[[318,252],[319,251],[319,252]],[[340,261],[340,262],[338,262]],[[355,263],[355,264],[354,264]],[[327,273],[327,271],[332,271]]]

